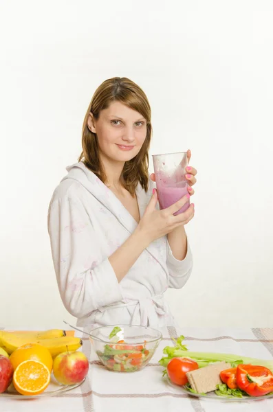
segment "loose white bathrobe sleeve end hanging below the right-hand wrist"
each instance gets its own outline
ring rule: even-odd
[[[170,244],[167,242],[167,258],[166,265],[168,268],[169,277],[169,287],[180,289],[186,284],[190,273],[193,270],[193,255],[190,250],[190,246],[187,242],[187,253],[184,260],[177,260],[173,256]]]

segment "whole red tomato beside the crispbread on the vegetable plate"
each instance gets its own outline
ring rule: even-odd
[[[186,373],[198,369],[198,363],[188,358],[173,358],[167,366],[167,374],[175,385],[186,385]]]

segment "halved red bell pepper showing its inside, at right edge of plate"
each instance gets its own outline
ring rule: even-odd
[[[272,371],[263,366],[238,365],[236,382],[241,391],[250,396],[263,396],[273,391]]]

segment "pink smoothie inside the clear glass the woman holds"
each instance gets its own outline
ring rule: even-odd
[[[185,194],[188,194],[188,183],[183,182],[179,187],[165,186],[157,183],[157,194],[158,201],[160,203],[160,209],[166,209],[166,207],[169,207],[173,205],[173,203],[179,201],[179,199],[185,196]],[[190,201],[187,201],[187,203],[181,209],[175,212],[175,215],[186,211],[189,206]]]

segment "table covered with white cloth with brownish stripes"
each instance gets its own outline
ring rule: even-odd
[[[3,328],[2,328],[3,329]],[[22,328],[23,329],[23,328]],[[160,329],[163,334],[151,363],[132,374],[107,371],[100,365],[88,336],[83,338],[83,352],[90,359],[87,379],[80,387],[52,398],[12,400],[1,398],[1,412],[273,412],[273,398],[255,402],[199,400],[181,393],[162,378],[158,364],[163,348],[172,345],[172,337],[183,334],[189,350],[224,352],[256,358],[273,356],[273,329],[175,328]]]

